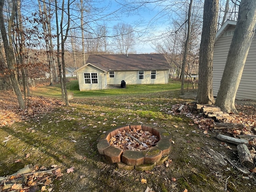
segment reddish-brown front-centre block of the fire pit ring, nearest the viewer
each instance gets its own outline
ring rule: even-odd
[[[142,151],[125,150],[122,155],[122,162],[127,165],[141,165],[144,163]]]

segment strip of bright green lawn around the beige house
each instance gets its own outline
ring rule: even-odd
[[[179,81],[170,80],[168,84],[148,84],[148,85],[127,85],[126,88],[104,89],[104,90],[86,90],[80,91],[78,80],[70,80],[67,82],[68,92],[74,93],[74,97],[95,97],[95,96],[118,96],[130,94],[151,94],[155,92],[165,92],[170,90],[178,90],[181,87]],[[192,87],[192,84],[189,84]],[[48,96],[48,97],[61,97],[60,84],[54,86],[42,86],[35,88],[32,91],[33,95]]]

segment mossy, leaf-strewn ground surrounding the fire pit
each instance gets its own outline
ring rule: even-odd
[[[48,168],[57,164],[64,176],[54,181],[56,192],[144,192],[147,186],[156,192],[181,192],[185,188],[189,192],[254,191],[254,175],[243,175],[229,164],[220,166],[202,149],[209,146],[226,150],[214,139],[214,133],[206,137],[190,118],[168,113],[173,104],[191,100],[180,97],[179,90],[75,98],[70,100],[71,107],[61,106],[2,127],[0,176],[10,175],[26,164]],[[97,138],[114,126],[130,123],[155,124],[172,134],[169,166],[126,171],[102,160]],[[2,142],[8,135],[11,139]],[[70,167],[74,172],[67,174]],[[141,183],[142,178],[146,184]]]

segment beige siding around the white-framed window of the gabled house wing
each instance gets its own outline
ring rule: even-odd
[[[98,83],[96,84],[85,84],[84,83],[84,73],[97,73],[98,74]],[[79,82],[79,89],[80,91],[83,90],[99,90],[99,89],[104,89],[106,84],[105,84],[105,76],[102,70],[99,70],[93,66],[86,66],[77,72],[78,74],[78,82]]]

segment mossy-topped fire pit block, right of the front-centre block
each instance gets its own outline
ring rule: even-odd
[[[162,158],[162,150],[160,150],[157,147],[152,147],[148,150],[143,150],[143,154],[145,164],[152,164],[154,162],[158,162]]]

